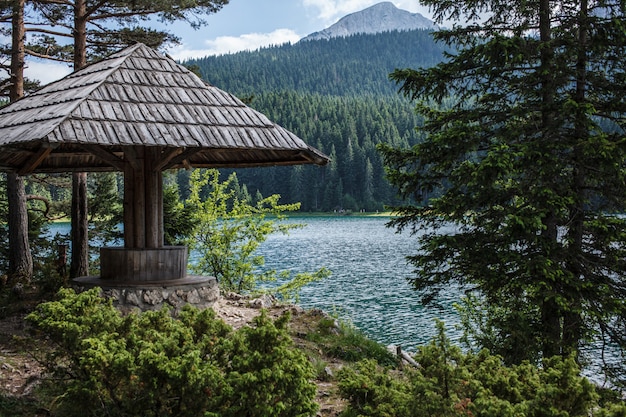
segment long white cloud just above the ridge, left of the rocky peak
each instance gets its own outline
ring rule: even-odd
[[[206,48],[189,49],[184,45],[174,47],[168,53],[177,60],[202,58],[239,51],[255,50],[262,46],[297,42],[301,36],[291,29],[277,29],[270,33],[246,33],[240,36],[219,36],[205,41]]]

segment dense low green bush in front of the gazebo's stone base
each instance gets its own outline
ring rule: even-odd
[[[56,345],[46,357],[63,416],[309,416],[312,366],[288,316],[233,331],[211,309],[121,314],[93,289],[61,290],[28,316]]]

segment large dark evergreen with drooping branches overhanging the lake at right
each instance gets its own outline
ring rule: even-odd
[[[592,336],[624,349],[626,219],[612,213],[626,203],[625,3],[424,3],[471,22],[435,34],[459,48],[447,62],[391,75],[426,139],[383,147],[389,179],[404,196],[440,193],[393,222],[428,231],[412,284],[427,299],[473,292],[474,336],[509,362]]]

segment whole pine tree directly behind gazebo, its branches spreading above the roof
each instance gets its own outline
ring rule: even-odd
[[[68,51],[72,52],[71,62],[78,70],[87,65],[89,58],[97,59],[108,54],[111,49],[143,41],[150,46],[160,46],[165,41],[175,40],[165,32],[149,30],[136,25],[151,16],[158,16],[163,21],[186,20],[198,27],[203,21],[197,19],[198,13],[213,13],[221,9],[228,0],[193,0],[193,1],[132,1],[110,2],[75,0],[59,2],[56,0],[33,1],[34,7],[44,19],[44,24],[55,29],[46,30],[46,35],[39,38],[30,53],[43,58],[67,60]],[[119,25],[112,29],[111,24]],[[60,30],[56,30],[60,27]],[[59,46],[56,38],[70,38],[71,46]],[[46,50],[51,48],[54,55],[42,54],[42,44]],[[85,276],[89,273],[89,245],[87,220],[87,175],[73,173],[72,178],[72,261],[70,276]]]

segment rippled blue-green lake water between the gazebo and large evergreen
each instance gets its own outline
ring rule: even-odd
[[[299,303],[350,321],[372,339],[402,345],[406,350],[428,343],[436,333],[435,319],[446,322],[451,339],[458,315],[457,291],[442,295],[439,307],[424,307],[406,278],[411,266],[405,257],[417,252],[417,238],[398,234],[385,225],[388,217],[290,217],[305,224],[288,235],[270,235],[260,248],[265,267],[278,271],[314,272],[322,267],[332,275],[306,286]],[[69,224],[50,227],[50,235],[68,233]]]

